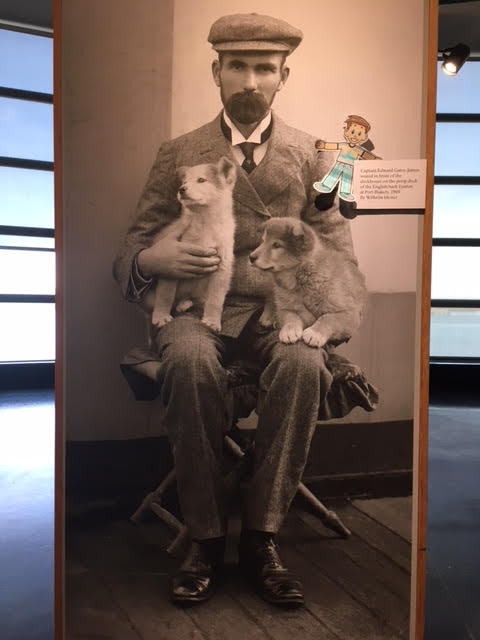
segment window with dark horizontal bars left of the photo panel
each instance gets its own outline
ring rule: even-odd
[[[53,40],[0,23],[0,363],[55,358]]]

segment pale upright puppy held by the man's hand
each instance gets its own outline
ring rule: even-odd
[[[164,227],[153,243],[170,234],[183,242],[215,248],[220,263],[215,272],[202,278],[158,278],[154,289],[145,296],[145,308],[151,311],[153,328],[159,329],[172,319],[172,310],[182,313],[198,306],[203,309],[203,324],[220,331],[223,304],[232,277],[235,232],[232,192],[236,168],[228,158],[222,157],[217,164],[181,167],[177,173],[180,217]]]

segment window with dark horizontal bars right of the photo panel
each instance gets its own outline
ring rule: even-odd
[[[430,355],[480,362],[480,60],[438,68]]]

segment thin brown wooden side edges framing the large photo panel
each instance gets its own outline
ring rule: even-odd
[[[63,176],[62,176],[62,0],[53,0],[54,26],[54,157],[55,157],[55,246],[57,268],[56,290],[56,363],[55,363],[55,526],[54,526],[54,579],[55,579],[55,640],[64,638],[64,296],[63,296]],[[412,640],[424,637],[425,572],[427,539],[427,467],[428,467],[428,401],[429,401],[429,330],[431,246],[433,219],[433,173],[435,147],[435,107],[437,72],[438,0],[428,3],[428,63],[426,80],[426,151],[427,199],[422,245],[422,297],[420,313],[419,397],[418,397],[418,475],[417,475],[417,545],[416,583],[414,586],[415,615],[412,616]]]

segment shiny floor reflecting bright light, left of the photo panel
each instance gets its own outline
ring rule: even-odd
[[[53,392],[0,393],[0,638],[53,638]]]

